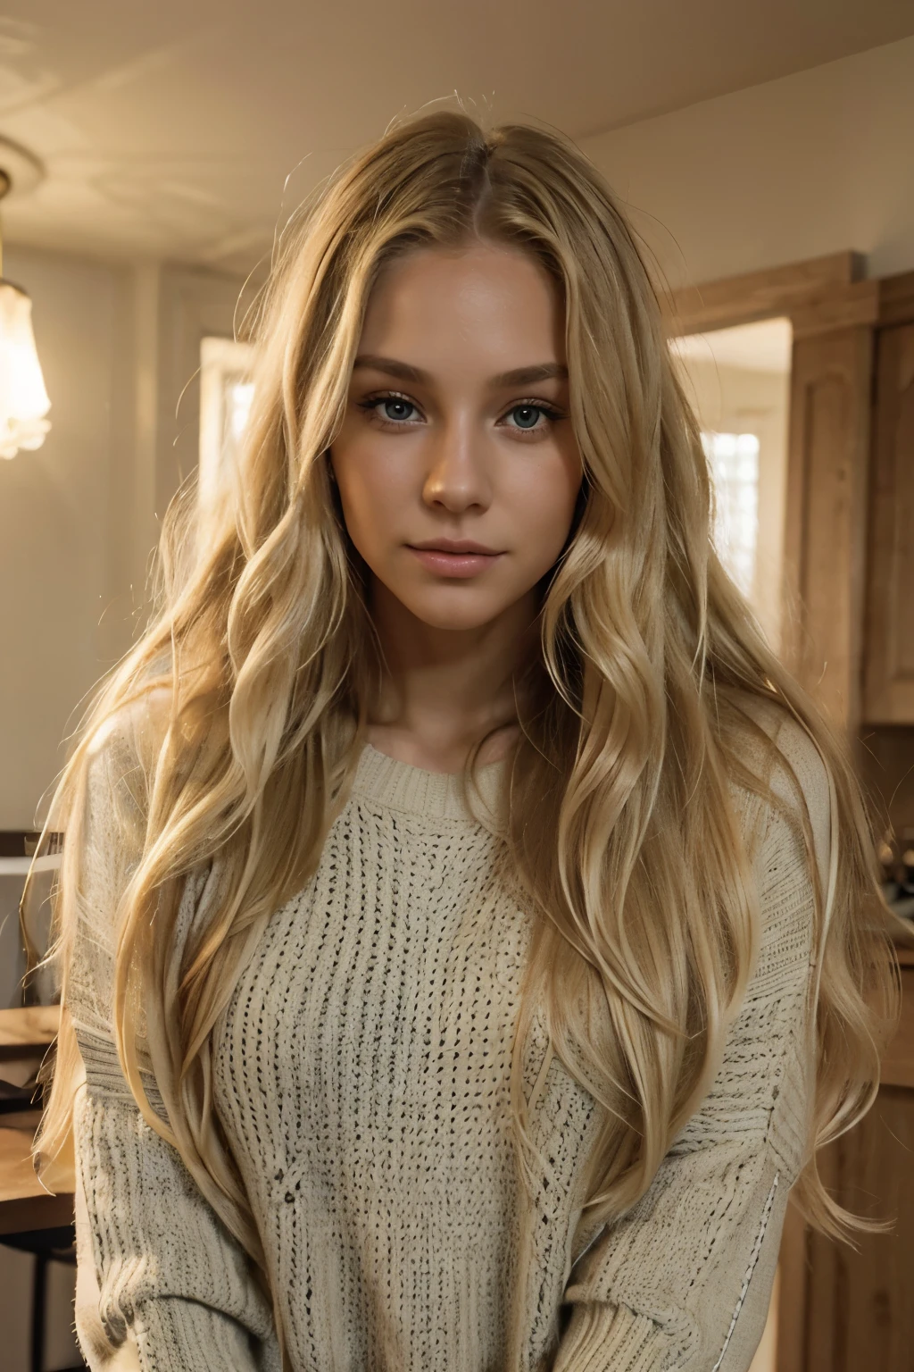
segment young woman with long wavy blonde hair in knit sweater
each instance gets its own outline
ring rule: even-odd
[[[418,118],[258,336],[52,818],[89,1364],[745,1369],[889,952],[619,206]]]

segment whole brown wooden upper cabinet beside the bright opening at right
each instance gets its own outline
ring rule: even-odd
[[[914,273],[792,320],[785,657],[852,738],[914,726]]]

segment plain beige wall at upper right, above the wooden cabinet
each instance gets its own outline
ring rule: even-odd
[[[674,287],[843,248],[914,269],[914,38],[582,147]]]

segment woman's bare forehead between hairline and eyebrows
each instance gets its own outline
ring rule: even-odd
[[[414,248],[381,270],[360,350],[433,372],[563,362],[562,295],[545,268],[518,248]]]

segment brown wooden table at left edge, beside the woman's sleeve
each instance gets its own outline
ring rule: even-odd
[[[58,1032],[56,1006],[29,1006],[0,1010],[0,1076],[4,1063],[36,1065]],[[0,1115],[0,1236],[34,1229],[55,1229],[73,1221],[73,1168],[69,1162],[55,1166],[42,1184],[32,1166],[32,1139],[41,1121],[41,1110],[16,1110]]]

